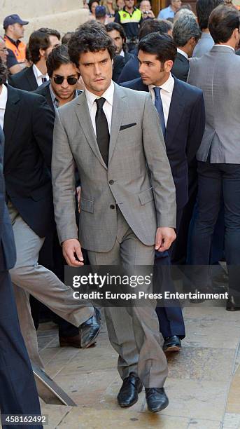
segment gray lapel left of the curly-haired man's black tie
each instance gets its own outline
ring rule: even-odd
[[[97,144],[96,135],[95,135],[94,129],[92,127],[92,121],[90,118],[90,113],[89,113],[85,93],[81,94],[77,99],[76,115],[78,117],[78,121],[80,122],[81,127],[83,128],[83,132],[85,134],[87,142],[90,145],[90,147],[92,148],[92,151],[94,151],[94,154],[99,159],[101,165],[103,165],[104,168],[107,168],[106,164],[104,163],[103,158],[101,157],[101,153],[99,151],[99,146]]]

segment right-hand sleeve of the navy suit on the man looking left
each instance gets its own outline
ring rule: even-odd
[[[192,109],[190,117],[190,124],[188,129],[188,142],[186,147],[186,154],[188,158],[188,165],[195,158],[199,146],[202,142],[202,136],[205,129],[205,105],[203,93],[197,97],[195,105]]]

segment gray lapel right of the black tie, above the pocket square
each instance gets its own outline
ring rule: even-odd
[[[113,111],[112,111],[112,121],[111,121],[108,165],[110,164],[111,158],[113,156],[113,151],[114,151],[115,144],[117,142],[118,134],[120,131],[120,125],[122,125],[123,115],[127,111],[125,98],[126,98],[125,94],[123,93],[120,86],[117,86],[114,84]]]

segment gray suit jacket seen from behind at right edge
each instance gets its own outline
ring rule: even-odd
[[[197,160],[240,163],[240,57],[227,46],[213,46],[190,60],[188,83],[204,92],[206,126]]]

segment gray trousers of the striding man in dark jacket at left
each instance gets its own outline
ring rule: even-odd
[[[8,203],[10,219],[17,250],[17,261],[10,270],[13,282],[17,313],[24,342],[30,359],[43,368],[38,353],[38,341],[34,321],[31,317],[29,294],[48,306],[61,318],[79,327],[94,315],[94,309],[85,300],[73,298],[73,290],[62,283],[57,276],[38,264],[38,254],[44,243],[24,222],[11,203]]]

